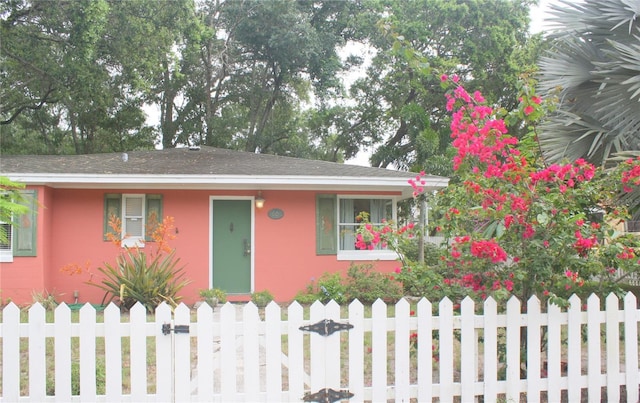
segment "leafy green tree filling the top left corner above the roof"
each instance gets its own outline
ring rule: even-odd
[[[159,57],[174,43],[170,22],[186,3],[4,2],[0,61],[11,84],[0,97],[3,151],[152,147],[142,106]]]

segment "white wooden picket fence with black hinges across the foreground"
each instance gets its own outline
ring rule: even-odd
[[[444,299],[434,315],[425,299],[417,306],[401,300],[390,315],[377,301],[369,315],[355,301],[345,317],[335,302],[315,303],[307,313],[297,303],[286,312],[271,303],[264,319],[251,303],[215,313],[202,305],[195,320],[185,305],[173,313],[162,305],[148,318],[141,305],[129,315],[115,305],[97,315],[87,304],[73,323],[66,305],[47,322],[35,304],[21,323],[19,308],[9,304],[0,323],[0,401],[275,402],[329,389],[353,394],[354,402],[638,401],[636,298],[610,295],[604,309],[596,295],[586,306],[577,297],[570,302],[567,310],[542,310],[534,297],[523,314],[515,298],[505,309],[488,299],[478,314],[471,299],[459,308]],[[329,336],[300,330],[324,319],[352,328]],[[177,332],[163,334],[167,324]],[[180,332],[185,326],[188,334]]]

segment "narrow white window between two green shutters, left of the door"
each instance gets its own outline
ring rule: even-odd
[[[119,220],[119,223],[116,221]],[[156,226],[162,221],[162,196],[151,194],[105,195],[104,239],[113,234],[122,239],[123,247],[144,246],[150,241]],[[118,228],[118,225],[119,227]],[[117,231],[120,230],[120,233]]]

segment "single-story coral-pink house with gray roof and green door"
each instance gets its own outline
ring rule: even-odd
[[[68,303],[100,302],[104,293],[86,281],[96,281],[95,268],[115,262],[119,252],[105,237],[111,216],[127,234],[120,246],[140,244],[151,221],[173,217],[171,246],[192,281],[181,293],[187,303],[213,287],[240,300],[269,290],[286,301],[311,279],[346,272],[352,262],[375,261],[391,271],[393,252],[355,249],[355,217],[367,211],[372,222],[395,218],[415,176],[211,147],[7,155],[0,175],[26,184],[34,197],[33,210],[9,226],[13,242],[0,245],[2,298],[16,303],[31,302],[34,291]],[[426,190],[448,182],[424,179]],[[61,270],[68,265],[86,270],[70,275]]]

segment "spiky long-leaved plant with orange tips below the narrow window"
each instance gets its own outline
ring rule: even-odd
[[[178,292],[189,283],[183,279],[184,267],[178,267],[179,261],[175,250],[149,258],[138,248],[126,249],[116,258],[115,265],[105,263],[98,268],[104,274],[100,283],[89,284],[106,292],[103,304],[117,299],[122,309],[129,310],[139,301],[148,312],[162,302],[175,307],[182,299]]]

